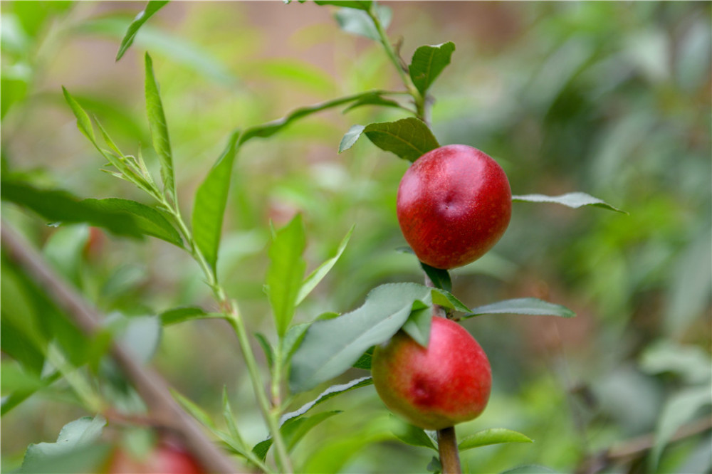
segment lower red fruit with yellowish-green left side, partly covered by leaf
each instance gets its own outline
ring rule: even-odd
[[[403,331],[377,346],[371,372],[384,404],[429,430],[476,418],[492,388],[490,364],[480,344],[444,317],[433,317],[427,349]]]

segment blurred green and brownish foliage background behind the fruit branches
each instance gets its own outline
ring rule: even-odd
[[[418,46],[456,43],[431,90],[439,142],[490,154],[508,173],[513,194],[584,191],[628,213],[515,204],[493,251],[452,272],[453,293],[471,307],[534,296],[577,312],[573,320],[488,316],[464,323],[491,359],[494,388],[483,416],[459,426],[459,436],[501,426],[535,440],[464,452],[464,468],[710,472],[711,4],[384,4],[392,9],[389,36],[406,60]],[[122,149],[140,148],[155,165],[143,99],[145,51],[161,85],[185,214],[234,129],[340,95],[402,87],[382,48],[341,31],[332,7],[173,2],[115,62],[141,3],[0,6],[2,172],[83,197],[147,202],[100,172],[103,162],[77,130],[61,86]],[[273,337],[262,290],[269,223],[281,226],[297,212],[307,229],[309,268],[356,225],[298,321],[352,310],[380,283],[422,281],[417,261],[395,250],[404,245],[395,196],[407,162],[366,139],[337,154],[351,125],[401,117],[366,107],[325,112],[241,149],[219,270],[252,332]],[[197,266],[167,243],[102,234],[86,251],[86,227],[51,228],[5,203],[2,217],[107,314],[213,304]],[[18,307],[14,271],[3,267],[10,282],[2,288],[3,315]],[[236,340],[225,329],[216,321],[167,327],[152,363],[216,416],[226,386],[239,426],[256,443],[266,432]],[[16,364],[5,352],[2,361]],[[354,370],[343,380],[360,375]],[[710,396],[695,398],[701,391]],[[86,414],[67,393],[60,381],[3,416],[4,471],[21,463],[28,443],[54,441],[63,424]],[[298,396],[295,406],[314,395]],[[295,465],[304,472],[426,470],[433,453],[396,440],[372,387],[326,407],[344,411],[298,446]],[[663,443],[670,426],[692,434]],[[656,443],[664,451],[651,468]]]

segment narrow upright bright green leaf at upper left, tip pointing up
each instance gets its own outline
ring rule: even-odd
[[[145,56],[145,63],[146,112],[148,115],[148,125],[151,130],[153,149],[156,150],[158,160],[161,164],[161,178],[163,179],[164,192],[175,198],[175,177],[173,172],[171,142],[168,137],[168,125],[166,123],[166,115],[163,112],[158,82],[153,73],[153,61],[148,53],[146,53]]]

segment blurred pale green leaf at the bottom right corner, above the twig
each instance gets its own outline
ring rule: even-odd
[[[651,469],[656,470],[663,449],[674,436],[675,432],[703,406],[712,404],[708,384],[679,391],[672,396],[663,407],[658,426],[655,431],[655,444],[650,451]]]

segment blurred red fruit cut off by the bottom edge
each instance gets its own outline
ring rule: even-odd
[[[117,449],[109,460],[108,474],[205,474],[187,451],[172,443],[161,443],[145,458],[134,458]]]

